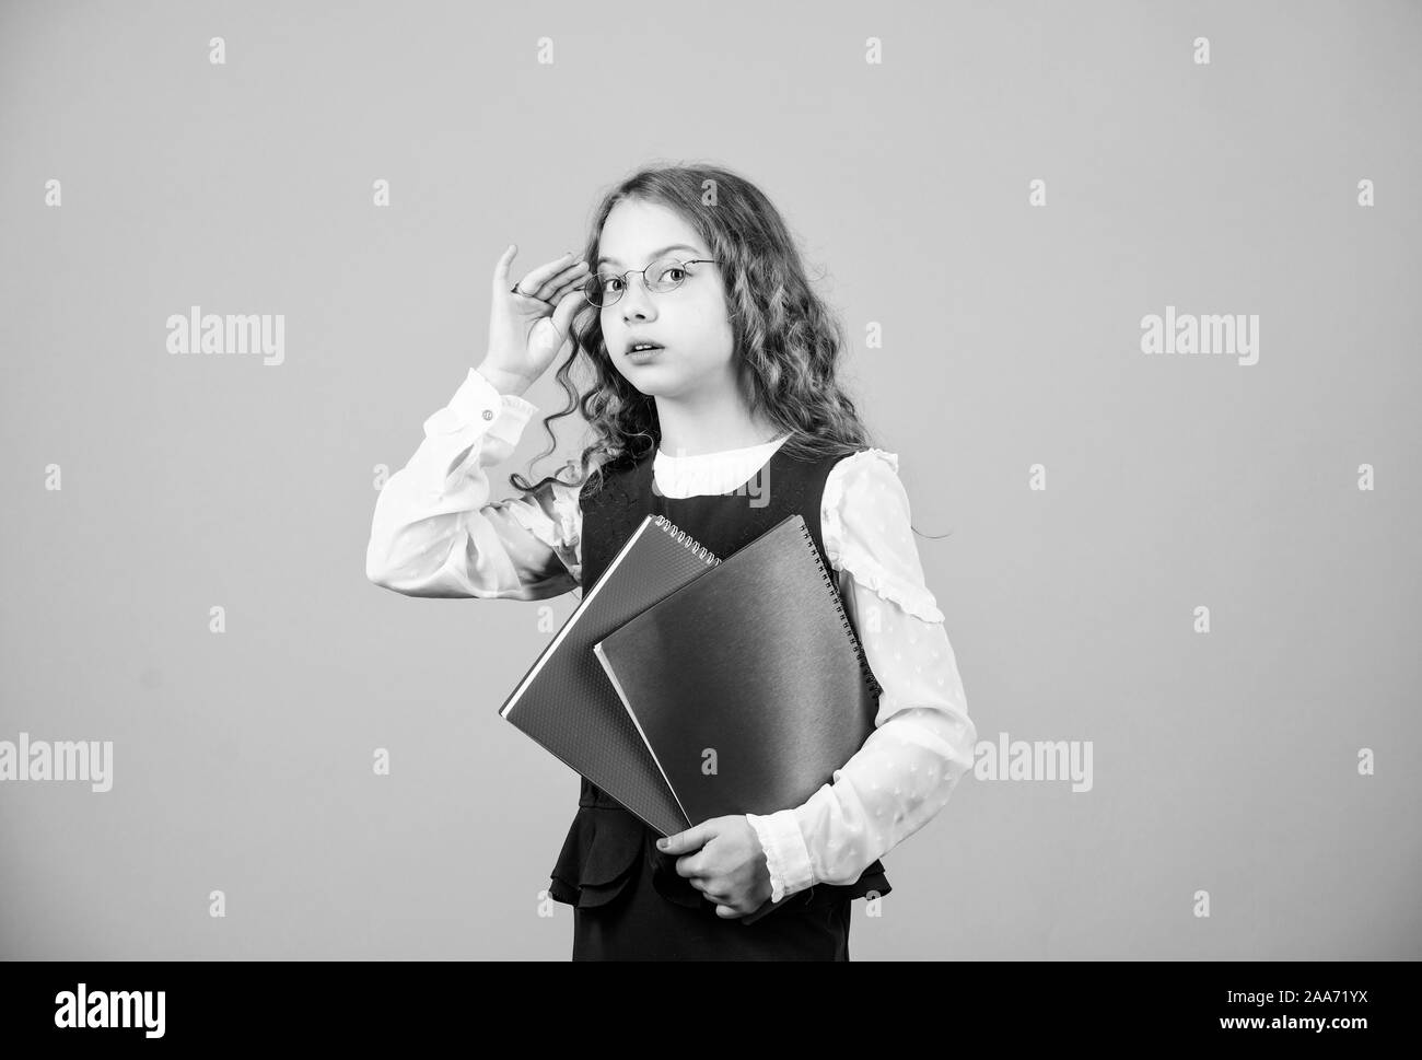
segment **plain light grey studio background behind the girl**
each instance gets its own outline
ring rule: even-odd
[[[499,252],[677,159],[825,273],[980,738],[1092,741],[1091,791],[967,777],[852,955],[1422,952],[1422,10],[0,10],[0,738],[114,741],[105,794],[0,785],[0,956],[567,959],[577,778],[496,711],[574,598],[364,548]],[[169,354],[193,304],[284,361]],[[1258,363],[1143,354],[1166,306],[1258,314]]]

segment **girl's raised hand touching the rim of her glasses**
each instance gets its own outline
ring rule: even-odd
[[[489,349],[479,366],[502,393],[530,387],[572,341],[573,314],[590,309],[582,293],[587,262],[572,252],[546,262],[518,282],[515,295],[509,263],[516,253],[513,243],[493,266]]]

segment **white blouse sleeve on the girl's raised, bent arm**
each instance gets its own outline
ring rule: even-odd
[[[579,487],[547,482],[489,501],[486,468],[513,452],[536,411],[469,369],[375,499],[365,576],[407,596],[535,600],[579,585]]]

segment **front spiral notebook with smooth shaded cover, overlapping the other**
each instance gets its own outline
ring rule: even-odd
[[[801,515],[593,650],[691,824],[801,805],[875,728],[880,684]]]

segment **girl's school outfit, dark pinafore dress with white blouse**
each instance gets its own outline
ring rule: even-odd
[[[781,451],[788,435],[693,457],[658,450],[604,468],[596,495],[545,482],[491,501],[489,471],[512,455],[536,411],[468,370],[380,492],[367,578],[408,596],[552,599],[586,592],[648,514],[721,558],[799,514],[883,686],[873,734],[826,784],[799,807],[747,814],[781,899],[754,925],[717,916],[675,874],[675,857],[656,849],[651,830],[582,780],[549,886],[573,906],[574,956],[846,959],[849,899],[889,894],[876,854],[943,810],[973,768],[977,741],[944,615],[913,545],[896,454],[795,461]],[[768,504],[758,507],[761,498]]]

